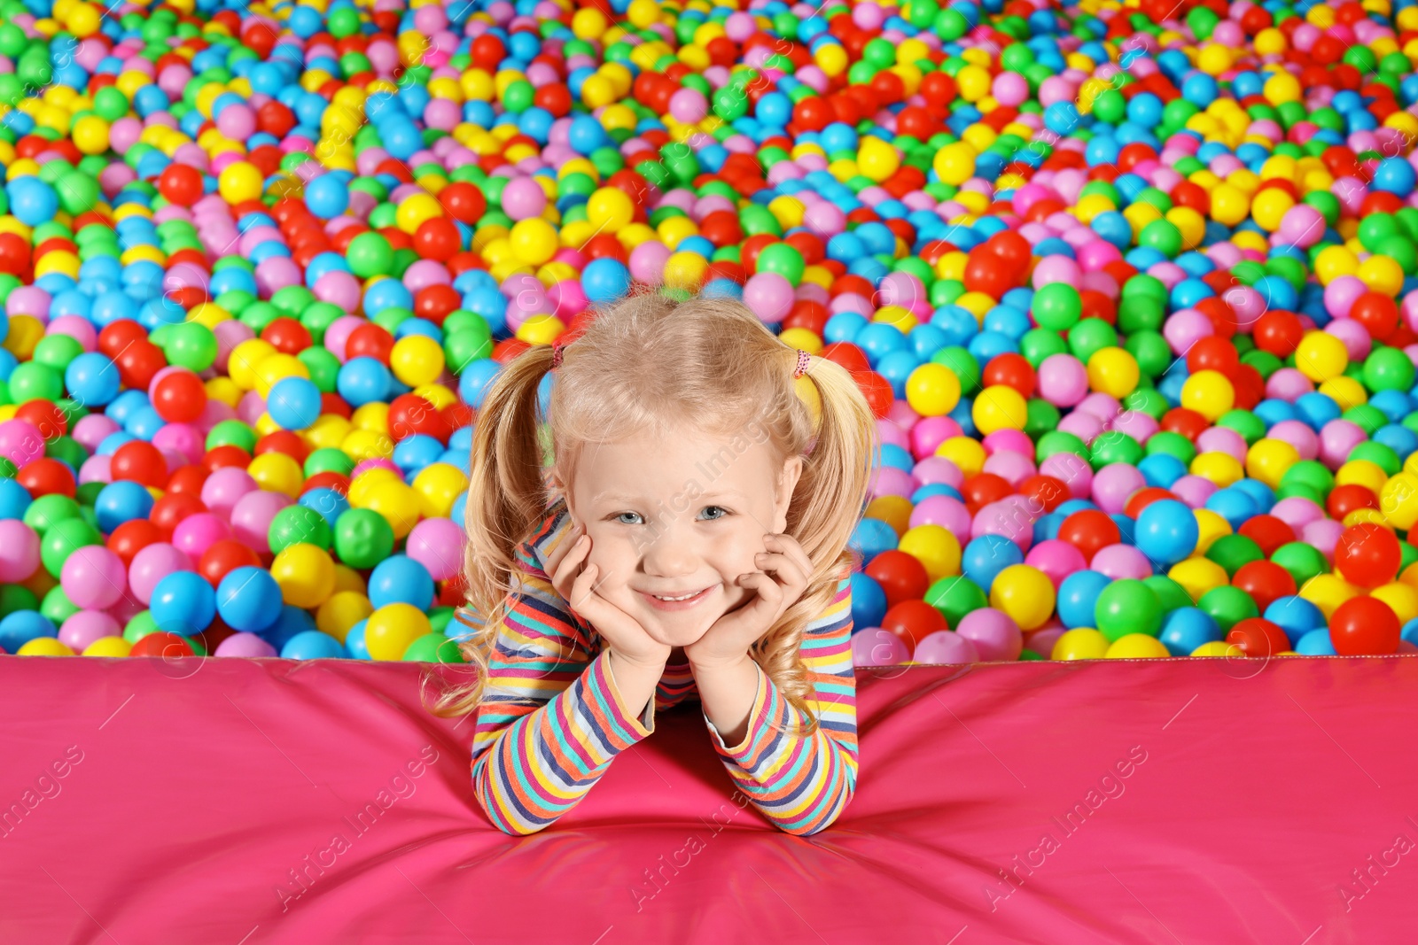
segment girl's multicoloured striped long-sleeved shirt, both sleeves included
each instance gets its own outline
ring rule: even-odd
[[[570,810],[623,749],[655,731],[655,713],[698,698],[689,663],[669,664],[655,697],[635,718],[625,711],[596,629],[552,588],[546,561],[566,536],[564,502],[547,510],[516,553],[510,612],[489,655],[488,684],[472,740],[474,793],[488,817],[508,833],[536,833]],[[459,612],[464,623],[471,621]],[[831,825],[856,788],[856,680],[852,615],[842,577],[827,611],[808,623],[801,653],[820,721],[783,698],[754,663],[759,689],[749,727],[725,745],[700,710],[729,776],[781,830],[811,834]],[[773,724],[787,731],[774,731]]]

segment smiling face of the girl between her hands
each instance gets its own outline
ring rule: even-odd
[[[587,445],[566,494],[591,540],[597,592],[658,643],[696,642],[753,596],[737,578],[759,570],[764,536],[787,527],[801,472],[800,456],[776,466],[767,443],[747,435]]]

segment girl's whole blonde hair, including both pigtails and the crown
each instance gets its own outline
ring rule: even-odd
[[[807,734],[817,731],[808,707],[814,689],[798,649],[807,625],[831,605],[852,564],[847,543],[866,502],[878,432],[847,368],[814,357],[795,380],[797,358],[733,299],[676,303],[658,292],[632,295],[600,312],[563,349],[546,418],[550,442],[540,436],[537,387],[552,368],[552,347],[532,347],[509,363],[486,391],[472,442],[465,571],[468,605],[481,626],[461,649],[476,680],[444,691],[430,711],[461,715],[482,700],[519,571],[513,555],[556,499],[543,469],[547,459],[554,459],[566,483],[587,443],[685,426],[732,436],[744,431],[744,418],[757,417],[774,468],[803,456],[786,533],[807,551],[813,574],[750,656],[811,720]]]

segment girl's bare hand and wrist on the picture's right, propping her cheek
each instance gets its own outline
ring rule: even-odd
[[[747,604],[729,611],[696,642],[685,646],[685,659],[695,667],[736,663],[767,633],[784,611],[807,589],[813,560],[795,538],[787,534],[764,536],[754,557],[757,571],[740,574],[737,584],[757,594]],[[769,577],[771,572],[773,577]]]

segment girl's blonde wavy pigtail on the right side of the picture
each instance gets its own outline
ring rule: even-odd
[[[790,350],[788,371],[795,358],[797,353]],[[795,395],[794,409],[801,408],[808,417],[814,436],[788,504],[787,533],[807,551],[814,570],[803,596],[750,652],[783,697],[808,718],[808,727],[798,734],[810,737],[817,732],[818,718],[808,701],[814,686],[801,656],[803,635],[832,604],[838,584],[851,572],[852,553],[847,543],[866,506],[879,434],[876,418],[847,368],[814,357],[804,380],[817,394],[817,402]]]

